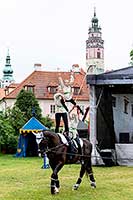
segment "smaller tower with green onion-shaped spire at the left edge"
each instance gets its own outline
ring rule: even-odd
[[[13,79],[13,70],[10,64],[10,56],[9,56],[9,50],[7,53],[7,57],[6,57],[6,64],[5,67],[3,69],[3,78],[2,78],[2,82],[1,82],[1,87],[5,88],[6,86],[8,86],[10,83],[14,83],[14,79]]]

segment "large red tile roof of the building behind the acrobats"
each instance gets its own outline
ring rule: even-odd
[[[58,86],[59,73],[62,79],[69,79],[70,72],[57,72],[57,71],[34,71],[24,81],[22,81],[12,92],[10,92],[6,98],[16,98],[20,90],[25,85],[34,85],[34,93],[37,99],[53,99],[53,94],[48,92],[48,86]],[[82,87],[82,95],[76,95],[74,98],[77,100],[89,100],[89,91],[86,84],[85,72],[83,69],[79,73],[74,73],[74,84],[75,87]],[[84,81],[83,81],[84,80]]]

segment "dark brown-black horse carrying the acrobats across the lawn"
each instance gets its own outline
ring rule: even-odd
[[[64,164],[77,163],[78,161],[81,162],[81,169],[79,178],[76,184],[73,186],[73,189],[77,190],[79,188],[85,172],[89,175],[91,187],[96,187],[91,165],[92,144],[87,139],[82,140],[82,154],[79,154],[77,149],[76,152],[72,154],[72,158],[70,159],[70,152],[68,150],[69,146],[61,141],[61,138],[58,134],[50,131],[44,131],[42,133],[39,143],[39,151],[42,156],[44,153],[47,153],[49,164],[53,170],[51,175],[51,194],[56,194],[59,192],[60,184],[58,180],[58,172],[61,170]]]

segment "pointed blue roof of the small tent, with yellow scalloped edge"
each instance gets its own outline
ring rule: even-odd
[[[39,122],[35,117],[32,117],[21,129],[20,133],[37,133],[39,131],[48,130],[41,122]]]

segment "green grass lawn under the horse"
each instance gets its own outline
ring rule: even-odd
[[[85,176],[72,191],[80,165],[65,165],[59,173],[60,193],[50,194],[51,169],[41,169],[41,158],[0,155],[0,200],[133,200],[132,167],[93,167],[97,188]]]

